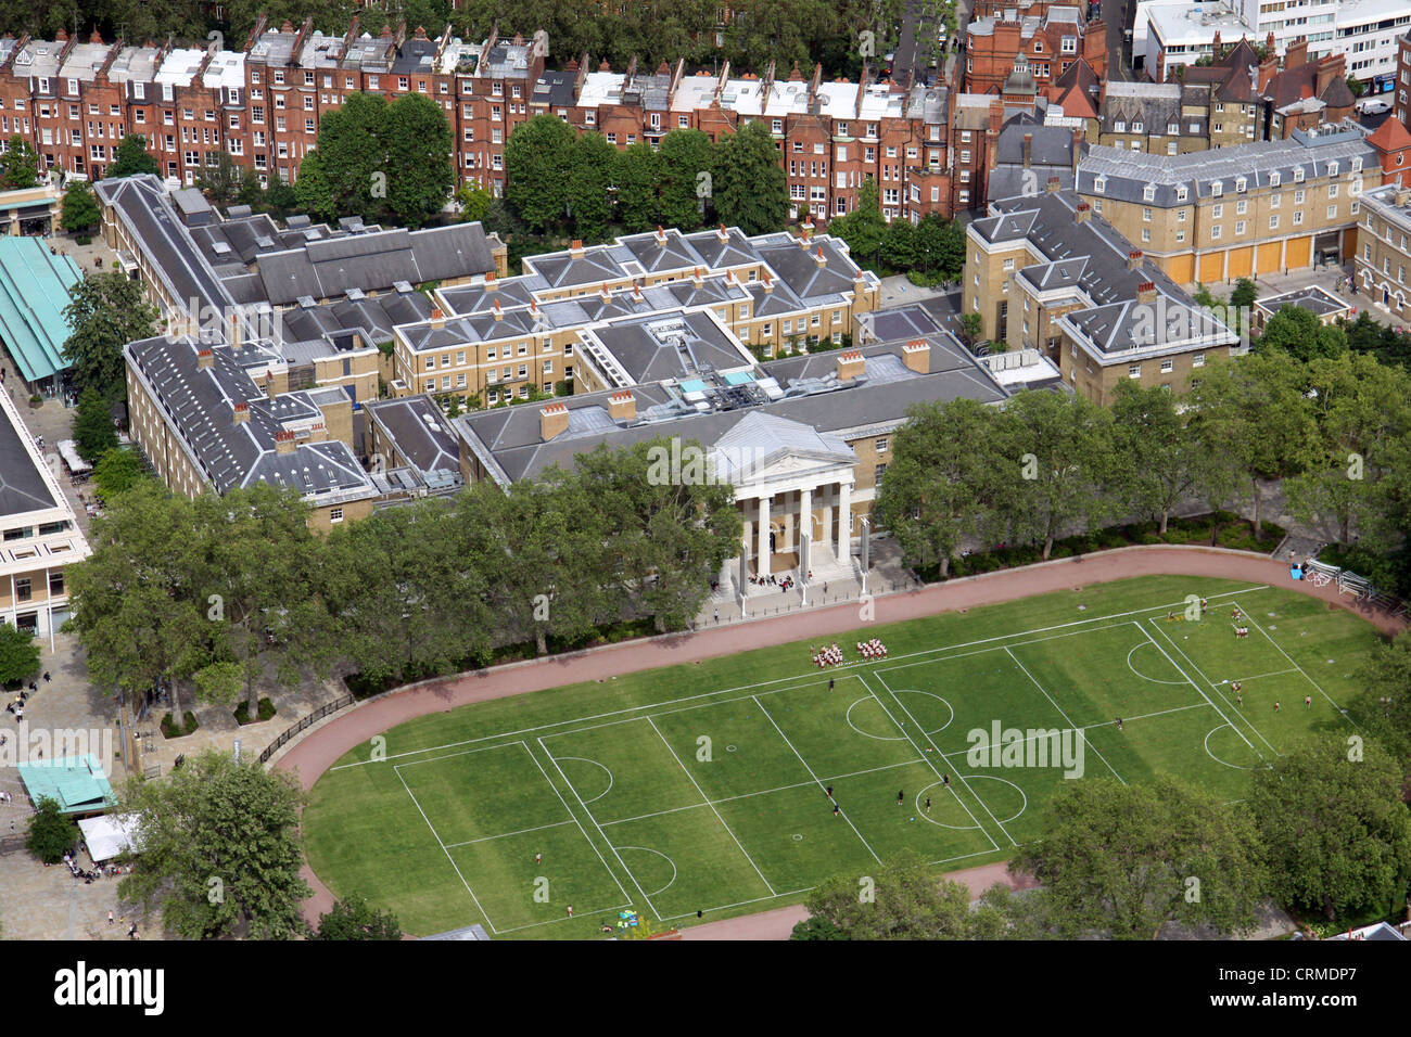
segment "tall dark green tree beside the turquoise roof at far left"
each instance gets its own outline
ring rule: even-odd
[[[104,399],[127,395],[127,365],[123,347],[157,333],[157,309],[148,305],[143,286],[123,271],[85,274],[69,289],[63,308],[69,337],[63,358],[82,392],[96,389]]]

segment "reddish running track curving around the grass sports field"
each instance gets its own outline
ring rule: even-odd
[[[1119,547],[1088,554],[1079,560],[1062,559],[1023,569],[1006,569],[876,598],[872,622],[919,619],[938,612],[993,605],[1036,594],[1072,590],[1084,584],[1109,583],[1136,576],[1211,576],[1246,580],[1284,587],[1348,608],[1348,600],[1338,594],[1336,584],[1314,587],[1305,580],[1290,580],[1287,563],[1274,562],[1264,554],[1160,545]],[[1405,626],[1404,621],[1393,619],[1384,612],[1363,611],[1359,615],[1388,635],[1397,633]],[[636,670],[735,655],[790,641],[845,633],[858,626],[858,602],[851,601],[772,619],[755,619],[713,626],[693,633],[672,633],[605,645],[583,652],[508,663],[490,670],[411,684],[399,691],[354,705],[346,712],[334,715],[322,727],[312,728],[293,742],[292,748],[274,766],[293,772],[305,789],[312,789],[323,772],[349,749],[365,742],[373,735],[429,712],[446,712],[470,703],[542,691],[562,684],[605,680]],[[969,876],[971,872],[985,872],[988,878],[983,885],[988,886],[996,880],[1007,880],[1003,868],[1003,863],[986,865],[982,869],[958,872],[952,878]],[[303,878],[313,887],[313,896],[303,903],[303,914],[310,924],[317,924],[319,916],[333,906],[334,897],[308,865],[303,866]],[[783,938],[799,920],[800,911],[803,911],[801,907],[783,907],[696,927],[703,930],[700,937],[690,935],[691,930],[686,930],[686,934],[687,938],[713,940]]]

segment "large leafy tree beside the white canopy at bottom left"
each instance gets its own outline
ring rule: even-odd
[[[303,934],[299,807],[293,776],[210,749],[164,782],[133,779],[120,811],[133,814],[141,854],[119,885],[124,900],[161,906],[188,940]]]

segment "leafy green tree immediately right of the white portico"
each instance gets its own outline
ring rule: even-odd
[[[878,522],[903,556],[940,564],[944,578],[965,538],[979,535],[993,501],[999,412],[972,399],[920,404],[897,433],[878,497]]]

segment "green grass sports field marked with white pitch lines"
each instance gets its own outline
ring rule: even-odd
[[[1209,601],[1202,619],[1184,618],[1191,594]],[[1034,838],[1068,779],[968,762],[969,732],[996,722],[1023,744],[1075,732],[1085,777],[1173,773],[1236,800],[1292,739],[1355,729],[1340,705],[1377,641],[1321,601],[1198,577],[861,626],[837,638],[849,665],[827,670],[796,642],[404,724],[384,759],[360,746],[313,787],[309,862],[419,935],[591,937],[626,907],[653,924],[766,910],[902,849],[944,872]],[[861,662],[872,636],[889,657]]]

